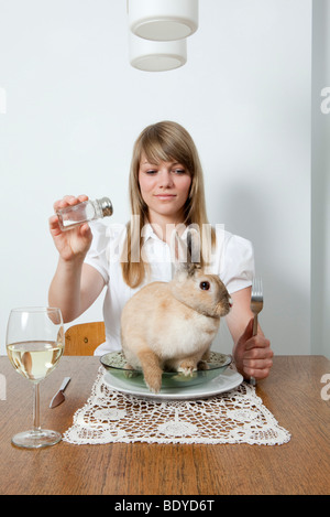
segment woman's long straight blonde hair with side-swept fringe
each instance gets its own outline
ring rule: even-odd
[[[127,233],[127,260],[121,262],[122,274],[124,281],[131,288],[135,288],[142,283],[147,269],[141,257],[143,245],[142,228],[147,222],[147,205],[142,198],[139,184],[139,170],[142,154],[145,155],[150,163],[158,163],[160,161],[175,160],[182,163],[191,176],[191,185],[189,194],[184,207],[184,224],[191,224],[202,228],[208,224],[204,174],[199,160],[199,155],[195,142],[188,131],[177,122],[162,121],[146,127],[135,141],[131,161],[129,193],[131,212],[133,216],[128,224]],[[211,233],[211,244],[215,243],[215,231]],[[204,249],[201,243],[201,249]],[[205,250],[204,250],[205,251]],[[134,256],[134,260],[132,257]],[[201,254],[201,266],[204,266],[205,252]],[[139,257],[139,260],[136,260]]]

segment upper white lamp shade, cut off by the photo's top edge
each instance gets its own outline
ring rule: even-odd
[[[176,41],[198,28],[198,0],[128,0],[129,26],[152,41]]]

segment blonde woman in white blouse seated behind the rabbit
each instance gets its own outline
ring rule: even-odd
[[[55,212],[85,200],[84,195],[66,196],[54,204]],[[191,224],[208,227],[198,152],[182,126],[165,121],[142,131],[133,149],[130,201],[132,218],[123,228],[95,224],[91,233],[84,224],[63,233],[57,216],[50,218],[59,252],[50,304],[59,306],[65,322],[69,322],[84,313],[107,286],[107,342],[96,351],[99,355],[120,349],[120,315],[132,294],[147,282],[172,278],[172,230],[183,233]],[[238,370],[245,378],[267,377],[273,356],[270,341],[261,328],[252,336],[251,244],[229,233],[219,239],[212,229],[210,239],[201,231],[201,249],[202,266],[220,276],[233,301],[227,323]]]

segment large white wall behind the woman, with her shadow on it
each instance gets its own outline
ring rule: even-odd
[[[196,140],[210,220],[254,244],[275,353],[311,352],[311,0],[199,3],[187,64],[152,74],[129,65],[124,0],[0,0],[2,353],[10,309],[47,301],[53,202],[109,195],[125,222],[133,141],[162,119]]]

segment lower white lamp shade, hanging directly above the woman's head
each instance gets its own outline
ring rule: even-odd
[[[178,68],[187,62],[187,42],[147,41],[130,34],[130,63],[145,72],[164,72]]]

